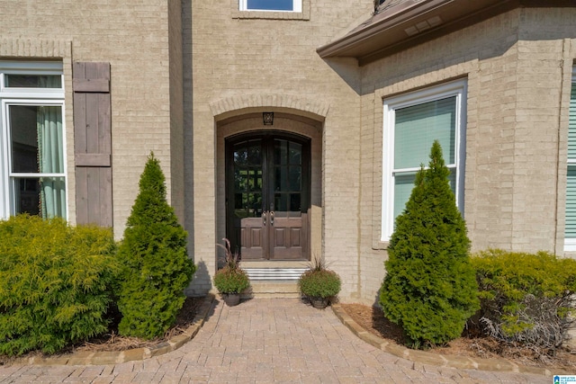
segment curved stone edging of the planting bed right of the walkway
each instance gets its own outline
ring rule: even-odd
[[[360,326],[339,304],[332,304],[334,314],[342,324],[347,326],[356,336],[366,343],[394,356],[419,362],[420,364],[436,365],[459,370],[500,371],[516,373],[532,373],[537,375],[552,376],[552,371],[546,368],[530,367],[516,364],[504,359],[481,359],[449,354],[429,353],[426,351],[412,350],[401,345],[388,342],[381,337],[373,335]],[[568,374],[567,372],[554,371],[554,374]]]

